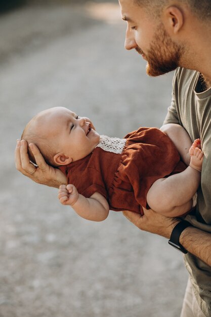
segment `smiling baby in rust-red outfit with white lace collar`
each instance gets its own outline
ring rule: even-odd
[[[178,128],[180,138],[157,128],[110,138],[100,136],[89,118],[54,107],[32,118],[22,139],[35,143],[46,162],[65,173],[68,185],[60,186],[58,197],[79,216],[102,221],[109,210],[143,214],[144,207],[177,217],[193,206],[203,160],[200,140],[192,144]],[[35,163],[30,148],[29,157]]]

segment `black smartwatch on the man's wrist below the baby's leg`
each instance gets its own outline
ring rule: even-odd
[[[179,222],[173,229],[170,240],[168,240],[168,243],[176,248],[177,250],[181,251],[182,253],[188,253],[188,251],[179,243],[180,235],[183,232],[183,230],[187,227],[192,227],[192,224],[188,221],[181,221]]]

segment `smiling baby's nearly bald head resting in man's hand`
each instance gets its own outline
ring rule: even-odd
[[[39,112],[25,127],[21,139],[34,143],[46,162],[54,167],[67,165],[90,154],[100,141],[87,117],[79,117],[64,107]],[[35,163],[28,148],[29,159]]]

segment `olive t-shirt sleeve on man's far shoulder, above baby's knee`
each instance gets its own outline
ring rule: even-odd
[[[172,82],[172,102],[171,106],[168,107],[168,111],[165,117],[165,120],[163,122],[163,125],[166,125],[168,123],[175,123],[175,124],[180,124],[179,118],[178,118],[178,113],[177,113],[177,106],[176,106],[176,96],[177,96],[177,91],[178,91],[178,71],[177,69],[175,71],[174,77],[173,77],[173,82]]]

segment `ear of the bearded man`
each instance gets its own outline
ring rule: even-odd
[[[176,6],[167,7],[162,13],[162,22],[168,34],[177,34],[184,25],[184,12]]]

